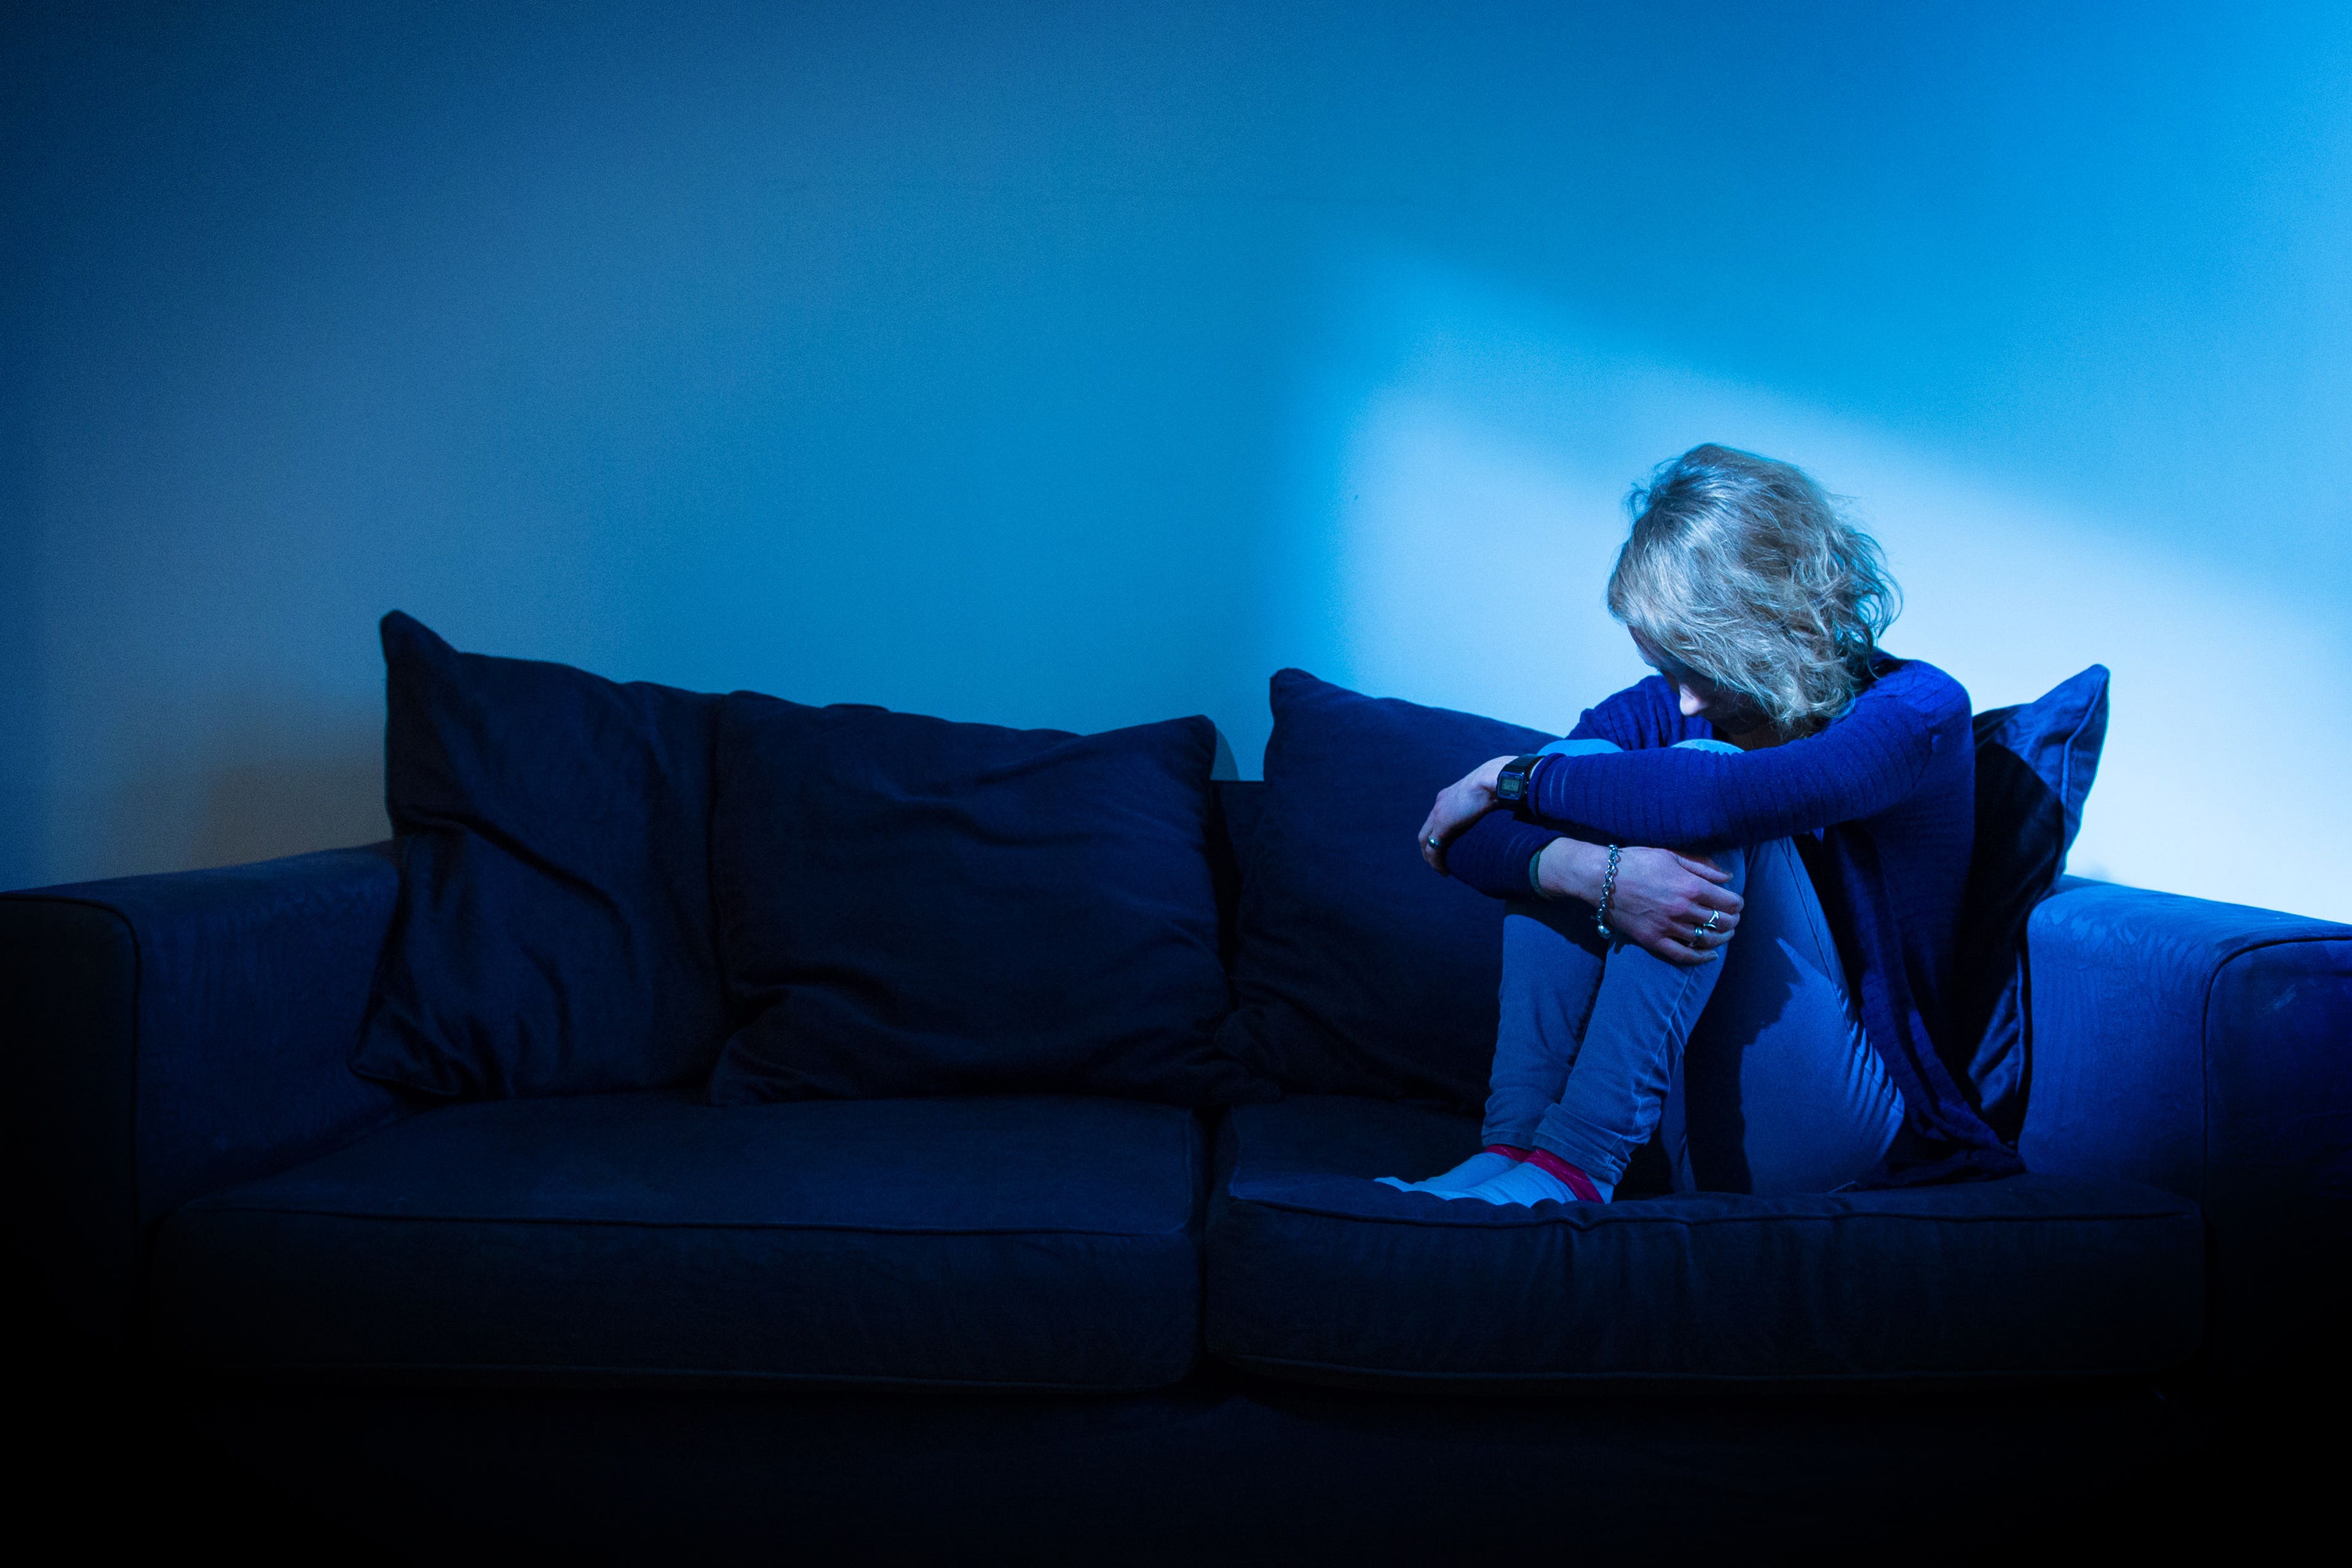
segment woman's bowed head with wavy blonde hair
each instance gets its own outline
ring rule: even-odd
[[[1903,595],[1877,541],[1802,468],[1691,447],[1625,505],[1609,614],[1717,729],[1804,733],[1870,682]]]

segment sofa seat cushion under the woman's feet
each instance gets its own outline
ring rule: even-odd
[[[1435,1175],[1477,1131],[1338,1095],[1230,1112],[1209,1352],[1301,1380],[1508,1392],[2143,1373],[2201,1335],[2201,1220],[2154,1187],[2018,1175],[1498,1208],[1369,1180]]]

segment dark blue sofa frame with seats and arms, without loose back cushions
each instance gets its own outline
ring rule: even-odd
[[[1338,1095],[423,1107],[346,1065],[395,893],[388,846],[9,893],[0,1020],[47,1288],[414,1549],[1428,1561],[1573,1497],[1867,1552],[2343,1361],[2338,924],[2065,882],[2023,1178],[1439,1211],[1364,1178],[1475,1121]]]

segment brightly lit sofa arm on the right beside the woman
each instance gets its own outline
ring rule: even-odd
[[[2204,1208],[2223,1382],[2345,1366],[2352,926],[2067,879],[2027,961],[2025,1164]]]

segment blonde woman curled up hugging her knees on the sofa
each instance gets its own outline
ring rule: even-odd
[[[1891,658],[1877,543],[1802,470],[1693,447],[1609,611],[1653,677],[1439,792],[1421,853],[1508,900],[1484,1152],[1406,1192],[1830,1192],[2016,1154],[1938,1056],[1976,811],[1969,693]]]

